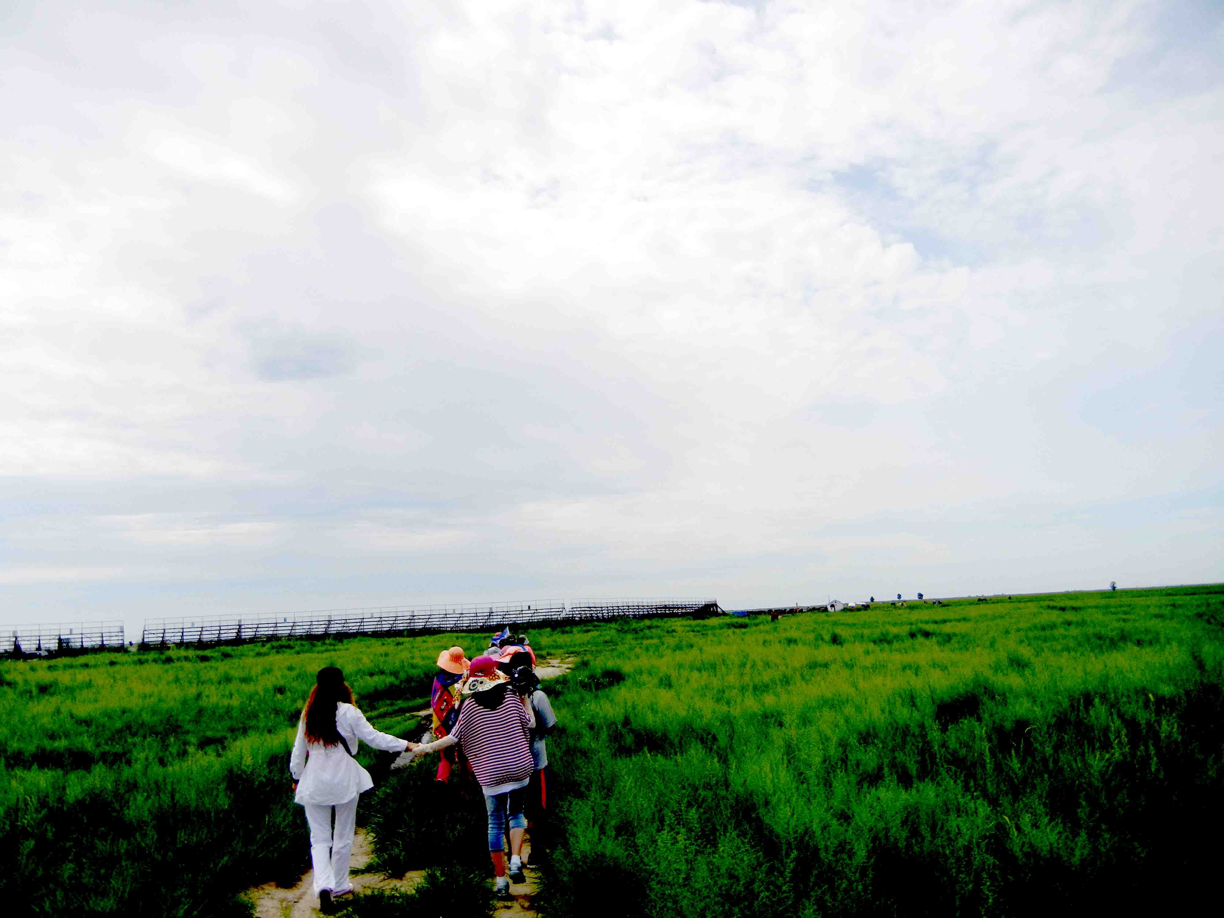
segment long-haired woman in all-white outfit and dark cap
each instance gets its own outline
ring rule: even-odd
[[[353,689],[335,666],[318,671],[297,722],[297,738],[289,770],[294,776],[294,800],[306,809],[310,856],[315,867],[315,894],[324,912],[332,897],[353,891],[349,857],[357,819],[357,794],[375,786],[356,755],[359,741],[375,749],[401,753],[408,743],[379,733],[353,706]],[[332,829],[332,815],[335,829]]]

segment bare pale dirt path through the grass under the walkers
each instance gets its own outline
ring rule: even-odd
[[[541,679],[553,679],[574,667],[573,659],[543,660],[536,666],[536,676]],[[428,711],[422,711],[422,716]],[[531,837],[523,842],[523,856],[531,860]],[[375,890],[404,890],[411,891],[425,876],[425,870],[409,870],[403,876],[383,876],[375,873],[361,873],[373,859],[373,848],[365,829],[357,829],[353,840],[351,879],[353,895],[360,896]],[[534,916],[531,898],[537,889],[539,874],[535,868],[524,868],[528,881],[510,886],[514,894],[513,902],[498,902],[494,914],[497,918],[514,918],[514,916]],[[492,884],[492,878],[490,879]],[[318,912],[318,898],[315,896],[315,871],[307,870],[306,875],[293,889],[282,889],[274,883],[266,883],[247,891],[247,898],[255,905],[256,918],[313,918]],[[341,896],[339,902],[348,900]]]

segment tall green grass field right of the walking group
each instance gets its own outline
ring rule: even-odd
[[[1220,854],[1222,619],[1212,589],[635,629],[601,657],[623,679],[553,689],[545,911],[1192,901]]]

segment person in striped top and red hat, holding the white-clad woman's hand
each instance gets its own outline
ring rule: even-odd
[[[535,760],[531,756],[531,730],[535,720],[523,699],[509,690],[509,677],[497,668],[492,656],[471,661],[465,698],[453,731],[442,739],[425,745],[409,743],[412,755],[438,752],[458,745],[471,765],[485,794],[488,815],[488,854],[496,874],[497,897],[512,898],[510,883],[524,883],[523,814],[526,786],[531,780]],[[506,869],[506,825],[510,826],[510,867]]]

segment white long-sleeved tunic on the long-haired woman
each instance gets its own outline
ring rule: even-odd
[[[344,701],[335,705],[335,728],[349,743],[354,755],[357,752],[359,739],[365,739],[375,749],[388,753],[401,753],[408,748],[408,741],[389,733],[379,733],[370,726],[370,721],[361,711]],[[310,753],[308,758],[306,753]],[[289,771],[297,781],[294,800],[302,804],[334,807],[338,803],[348,803],[362,791],[375,786],[370,772],[345,752],[341,743],[335,745],[307,743],[305,717],[297,721],[297,738],[294,741]]]

